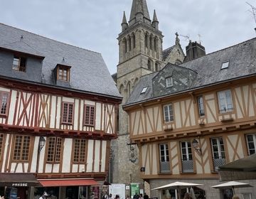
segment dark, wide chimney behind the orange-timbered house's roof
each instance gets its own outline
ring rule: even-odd
[[[189,41],[188,45],[186,46],[186,58],[184,62],[201,58],[204,55],[206,55],[206,48],[204,48],[201,43]]]

